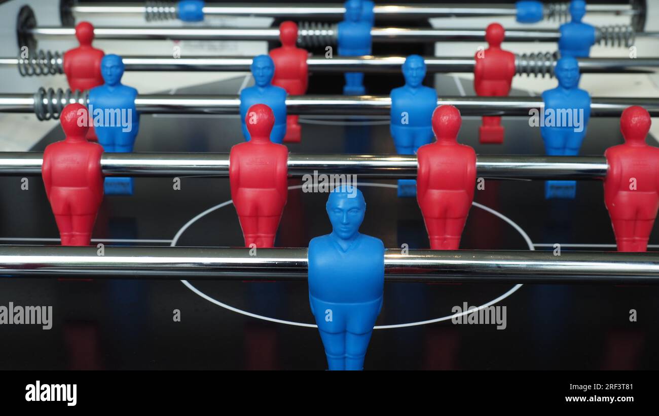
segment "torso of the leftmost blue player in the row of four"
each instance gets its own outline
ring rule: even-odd
[[[98,142],[103,145],[105,151],[109,152],[130,152],[135,143],[135,138],[138,134],[140,127],[140,115],[137,113],[135,107],[135,98],[137,97],[137,90],[119,84],[110,88],[107,85],[92,88],[89,91],[89,104],[91,117],[96,119],[96,110],[103,111],[103,125],[96,125],[94,122],[94,132],[98,136]],[[127,116],[130,112],[130,131],[115,119],[114,125],[107,126],[106,118],[111,111],[124,111],[120,116],[122,118]],[[115,114],[117,114],[115,112]],[[125,114],[125,115],[124,115]]]

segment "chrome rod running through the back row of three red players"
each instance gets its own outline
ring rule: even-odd
[[[309,57],[306,64],[310,72],[340,73],[348,71],[370,73],[399,73],[406,57]],[[32,67],[51,67],[50,72],[42,74],[62,74],[64,63],[61,57],[53,57],[51,62],[31,57],[0,58],[0,66],[27,65]],[[469,57],[424,57],[426,70],[434,72],[473,72],[475,60]],[[579,70],[582,73],[651,73],[659,67],[658,58],[579,58]],[[156,57],[156,56],[125,56],[125,70],[129,71],[241,71],[247,72],[252,65],[252,57]],[[532,53],[517,55],[515,61],[518,74],[553,76],[556,57],[552,53]]]

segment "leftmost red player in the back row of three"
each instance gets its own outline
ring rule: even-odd
[[[101,60],[105,53],[92,47],[94,26],[90,22],[80,22],[76,26],[76,38],[80,46],[69,49],[64,54],[64,73],[67,75],[71,91],[86,91],[103,85]],[[98,142],[94,126],[87,131],[87,139]]]

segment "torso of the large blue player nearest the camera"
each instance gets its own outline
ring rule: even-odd
[[[308,250],[309,301],[324,332],[372,331],[382,308],[384,244],[358,234],[347,250],[331,234],[316,237]],[[325,319],[331,309],[332,319]]]

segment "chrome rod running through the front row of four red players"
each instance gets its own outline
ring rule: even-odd
[[[43,153],[0,152],[0,176],[40,175]],[[357,174],[364,178],[415,178],[416,155],[307,155],[291,153],[290,176]],[[105,176],[229,176],[227,153],[103,153]],[[606,176],[604,157],[489,156],[476,159],[478,176],[542,180],[596,180]]]

